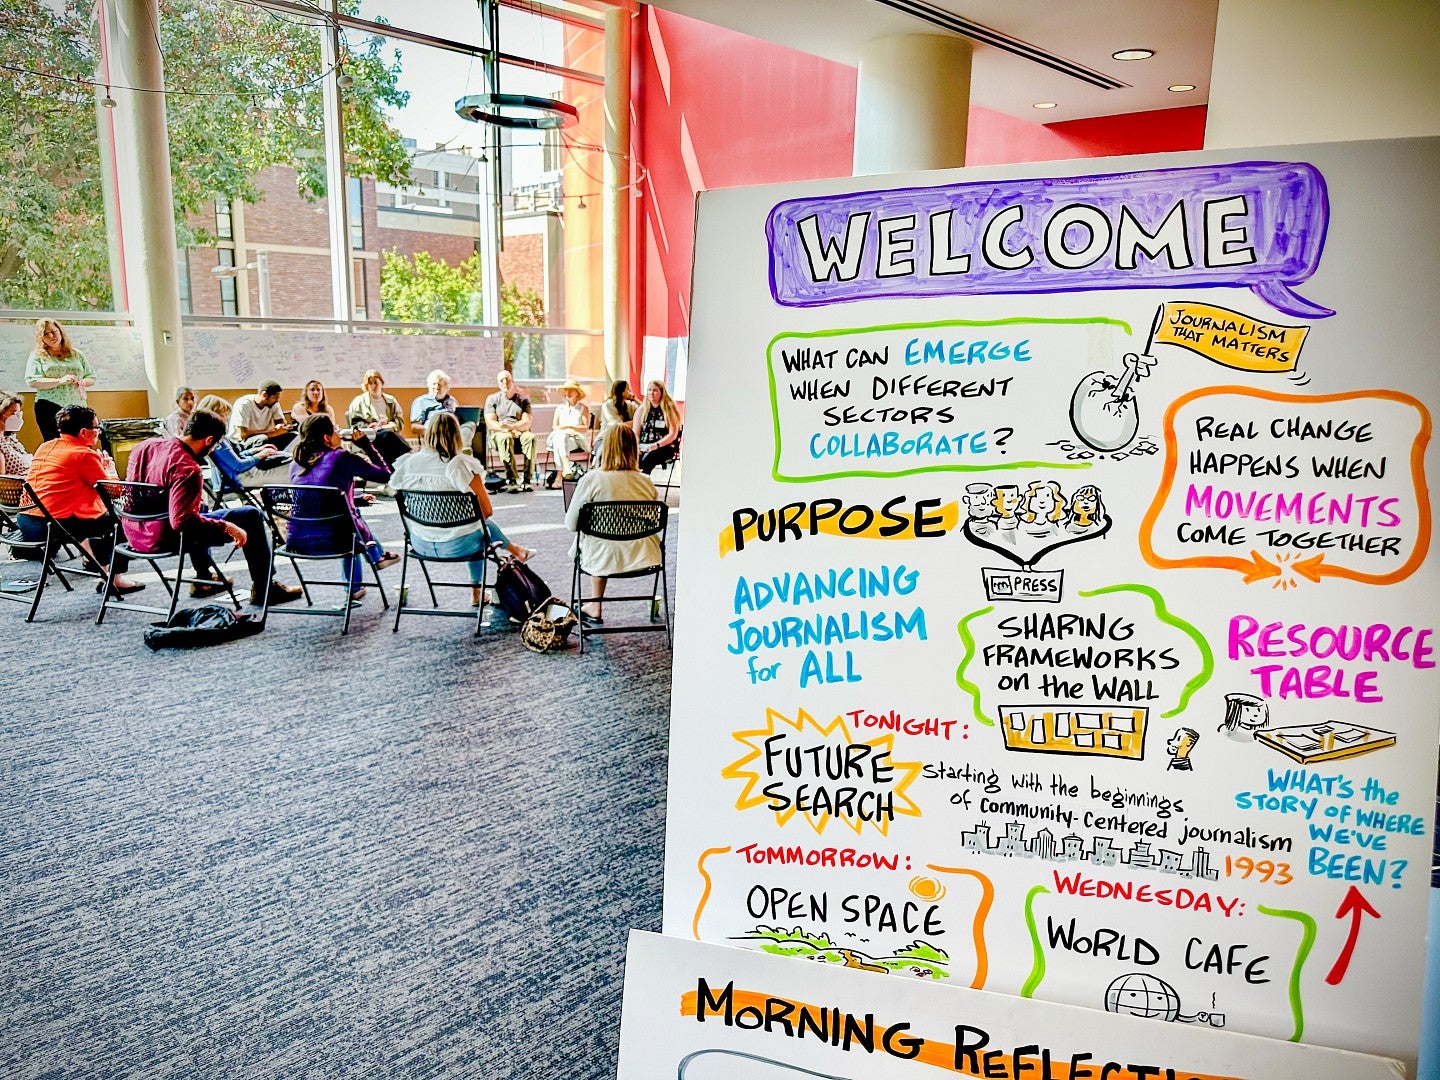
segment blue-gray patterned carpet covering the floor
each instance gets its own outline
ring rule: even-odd
[[[497,501],[564,595],[560,517]],[[158,654],[91,589],[0,605],[0,1076],[613,1076],[625,935],[660,929],[664,635],[536,655],[392,634],[370,593],[347,638]]]

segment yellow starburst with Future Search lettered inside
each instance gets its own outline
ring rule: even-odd
[[[888,835],[894,818],[920,816],[906,792],[922,762],[890,756],[894,733],[857,740],[842,716],[822,727],[804,708],[793,720],[766,708],[765,727],[732,734],[749,747],[720,770],[727,780],[744,780],[736,809],[765,806],[779,825],[799,815],[816,832],[835,818],[857,835],[865,825]]]

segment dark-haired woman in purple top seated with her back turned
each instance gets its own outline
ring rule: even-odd
[[[366,456],[350,454],[336,431],[336,422],[325,413],[307,416],[300,425],[300,439],[291,451],[289,481],[291,484],[308,484],[311,487],[338,488],[344,497],[344,508],[354,523],[366,546],[366,556],[374,563],[376,570],[399,562],[400,556],[392,554],[380,547],[370,534],[364,518],[354,503],[354,482],[357,480],[373,480],[383,484],[390,478],[390,467],[376,451],[361,429],[353,432],[354,445]],[[295,510],[301,517],[334,514],[337,507],[327,505],[320,495],[301,492],[295,498]],[[350,539],[350,530],[343,524],[331,527],[323,523],[292,521],[287,536],[287,544],[297,552],[334,552],[344,547]],[[364,586],[360,585],[360,560],[347,559],[346,572],[350,576],[350,595],[354,599],[364,596]]]

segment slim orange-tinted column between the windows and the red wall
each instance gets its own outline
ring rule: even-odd
[[[611,380],[629,372],[629,207],[631,207],[631,20],[605,13],[605,372]]]

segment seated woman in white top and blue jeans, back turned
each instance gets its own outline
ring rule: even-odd
[[[469,579],[475,583],[472,602],[480,606],[481,582],[485,580],[485,553],[500,544],[520,562],[534,554],[530,547],[510,543],[491,517],[490,492],[485,491],[485,464],[461,454],[459,422],[448,412],[436,412],[425,422],[420,449],[400,458],[390,477],[396,491],[472,491],[480,500],[485,523],[456,528],[410,524],[410,546],[422,556],[452,559],[472,556]]]

